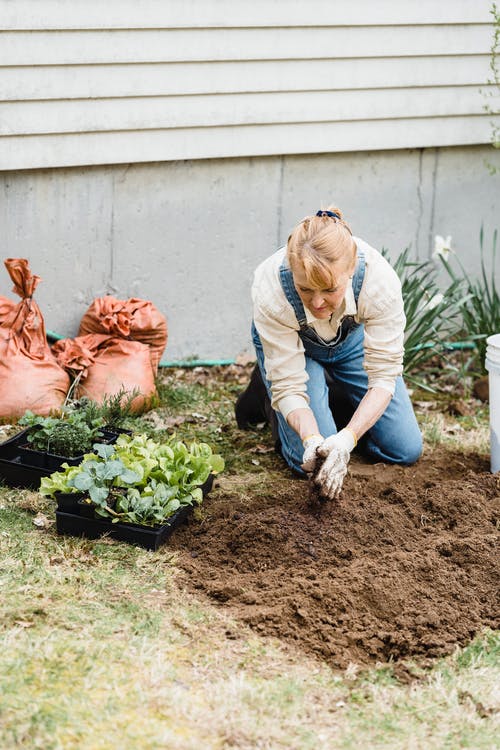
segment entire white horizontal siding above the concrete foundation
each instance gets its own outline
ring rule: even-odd
[[[489,10],[0,0],[0,169],[485,143]]]

